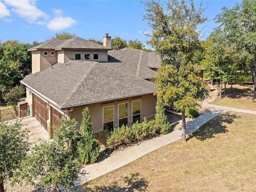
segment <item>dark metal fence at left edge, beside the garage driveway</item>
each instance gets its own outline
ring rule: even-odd
[[[30,109],[28,108],[28,106],[8,107],[8,109],[0,110],[0,122],[26,116],[30,116]]]

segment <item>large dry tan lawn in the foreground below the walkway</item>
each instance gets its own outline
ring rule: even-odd
[[[86,192],[256,191],[256,115],[227,112],[82,186]]]

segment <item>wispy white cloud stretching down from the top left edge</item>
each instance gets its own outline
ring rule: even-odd
[[[39,18],[47,19],[49,16],[42,10],[36,8],[36,0],[5,0],[6,5],[12,6],[15,12],[27,22],[35,23]]]

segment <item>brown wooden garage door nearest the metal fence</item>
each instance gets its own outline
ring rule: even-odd
[[[46,109],[46,102],[40,99],[38,96],[34,95],[33,109],[34,117],[41,123],[41,125],[47,129],[47,120],[49,118],[48,109]]]

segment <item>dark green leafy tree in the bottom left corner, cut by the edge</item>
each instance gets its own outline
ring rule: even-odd
[[[4,192],[4,181],[14,176],[26,159],[30,147],[28,130],[22,130],[20,121],[0,122],[0,192]]]

